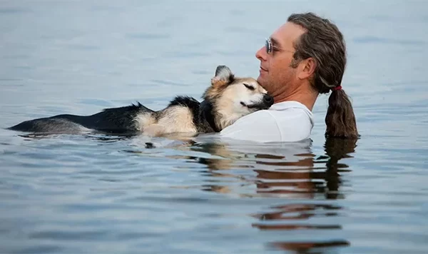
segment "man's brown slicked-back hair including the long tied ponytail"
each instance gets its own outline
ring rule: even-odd
[[[295,54],[291,66],[312,58],[316,62],[312,87],[319,93],[329,93],[341,86],[346,66],[346,46],[342,33],[328,19],[312,13],[292,14],[287,21],[306,30],[295,41]],[[325,123],[326,136],[357,138],[357,123],[350,98],[343,89],[332,90]]]

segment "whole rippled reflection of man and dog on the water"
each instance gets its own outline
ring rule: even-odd
[[[294,144],[272,144],[230,146],[228,143],[211,142],[186,143],[182,148],[197,151],[206,156],[171,156],[187,163],[200,163],[206,167],[200,174],[206,178],[200,186],[202,191],[220,194],[238,192],[240,197],[280,197],[286,200],[283,205],[269,208],[269,212],[250,214],[259,220],[253,228],[259,230],[342,230],[335,221],[340,216],[342,206],[323,203],[327,200],[345,199],[342,193],[342,174],[352,170],[340,163],[342,158],[352,158],[357,139],[328,138],[325,141],[325,155],[317,156],[311,152],[311,141],[300,146]],[[260,151],[258,153],[257,151]],[[272,152],[272,154],[269,153]],[[248,171],[253,172],[250,174]],[[242,172],[242,173],[237,173]],[[215,180],[218,179],[218,180]],[[231,184],[233,183],[233,184]],[[239,186],[239,188],[236,188]],[[247,186],[247,188],[245,188]],[[243,193],[249,186],[253,192]],[[306,200],[293,203],[292,200]],[[317,200],[321,203],[313,203]],[[312,218],[330,218],[330,223],[312,223]],[[324,241],[276,241],[268,243],[271,247],[292,250],[295,253],[313,253],[312,249],[323,250],[317,253],[330,253],[330,248],[350,245],[347,239]],[[326,252],[324,252],[324,250]]]

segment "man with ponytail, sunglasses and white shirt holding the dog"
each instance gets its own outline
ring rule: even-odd
[[[275,103],[240,118],[220,136],[258,142],[310,138],[315,101],[331,91],[325,135],[357,138],[352,104],[341,86],[345,41],[335,24],[312,13],[292,14],[255,56],[260,60],[258,82]]]

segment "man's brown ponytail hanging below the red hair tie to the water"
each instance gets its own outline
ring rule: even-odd
[[[333,89],[328,98],[325,136],[358,138],[357,123],[350,98],[342,89]]]

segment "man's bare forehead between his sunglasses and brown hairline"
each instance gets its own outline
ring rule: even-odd
[[[305,34],[305,31],[302,26],[287,22],[275,30],[270,39],[277,46],[292,46],[296,39]]]

